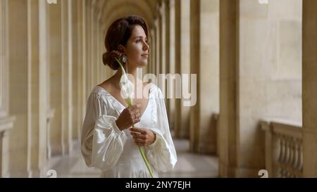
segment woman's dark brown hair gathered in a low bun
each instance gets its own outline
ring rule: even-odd
[[[128,15],[124,18],[115,20],[110,25],[106,34],[106,39],[104,40],[107,50],[106,53],[102,55],[104,65],[108,65],[113,70],[119,68],[119,64],[115,60],[115,57],[120,60],[123,56],[123,52],[119,51],[118,47],[119,45],[125,46],[127,44],[135,25],[140,25],[148,37],[147,23],[144,18],[138,15]]]

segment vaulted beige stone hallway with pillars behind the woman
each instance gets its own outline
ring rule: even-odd
[[[0,0],[0,177],[99,177],[82,122],[130,14],[179,155],[161,177],[317,177],[316,0]]]

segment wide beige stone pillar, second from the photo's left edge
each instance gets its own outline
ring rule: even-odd
[[[30,96],[30,62],[28,60],[27,3],[25,0],[8,2],[8,63],[9,111],[16,121],[9,138],[10,177],[27,177],[28,117]],[[19,50],[19,51],[17,51]],[[20,99],[24,98],[24,99]],[[30,113],[29,113],[30,114]],[[18,142],[17,142],[18,141]]]

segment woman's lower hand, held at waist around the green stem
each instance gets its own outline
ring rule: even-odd
[[[130,132],[137,146],[149,146],[156,139],[156,134],[150,129],[134,127],[130,129]]]

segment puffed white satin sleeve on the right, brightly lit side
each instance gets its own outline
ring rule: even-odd
[[[155,113],[157,115],[157,121],[154,127],[151,127],[151,130],[156,134],[156,140],[150,146],[145,147],[145,150],[151,165],[159,172],[167,172],[173,169],[178,158],[172,136],[170,136],[163,94],[158,87],[156,92],[158,96],[156,98]]]

